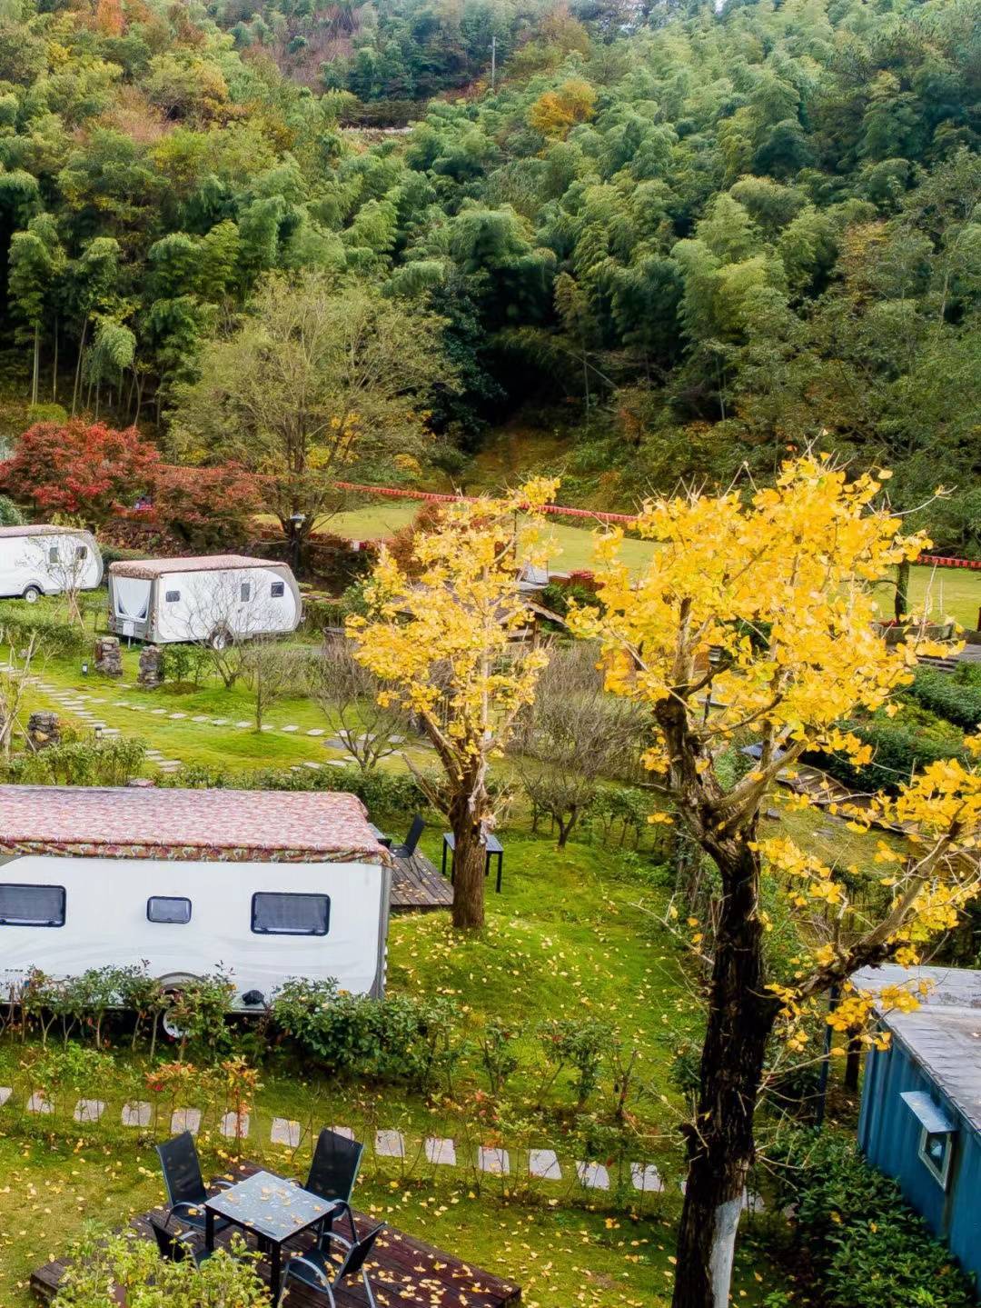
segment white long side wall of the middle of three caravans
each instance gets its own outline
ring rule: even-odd
[[[263,636],[299,625],[293,578],[285,569],[167,573],[153,587],[150,640],[201,641],[222,627],[235,637]]]

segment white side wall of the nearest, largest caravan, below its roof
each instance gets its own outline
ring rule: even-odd
[[[14,892],[5,901],[3,891],[14,886],[63,887],[64,925],[12,925]],[[327,934],[257,934],[256,893],[327,896]],[[145,960],[154,977],[174,984],[221,964],[235,982],[231,1007],[242,1011],[246,991],[268,999],[298,976],[333,977],[354,994],[380,995],[389,893],[391,872],[380,863],[13,858],[0,866],[0,991],[33,967],[68,977]],[[189,921],[149,921],[152,896],[189,900]]]

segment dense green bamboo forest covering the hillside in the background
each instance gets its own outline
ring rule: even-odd
[[[22,394],[166,437],[263,279],[316,272],[443,319],[457,382],[419,399],[444,433],[423,459],[564,402],[567,489],[614,504],[765,477],[820,434],[890,463],[904,508],[955,487],[935,539],[978,543],[977,0],[212,13],[18,0],[0,22]],[[324,44],[332,24],[358,30]],[[375,144],[338,128],[346,93],[256,48],[307,41],[319,88],[426,97],[486,69],[491,35],[496,93]]]

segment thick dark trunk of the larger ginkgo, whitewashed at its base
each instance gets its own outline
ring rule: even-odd
[[[750,837],[751,838],[751,837]],[[698,1121],[678,1230],[673,1308],[726,1308],[735,1232],[754,1158],[752,1121],[779,1005],[765,990],[759,861],[738,837],[707,841],[722,903],[701,1049]]]

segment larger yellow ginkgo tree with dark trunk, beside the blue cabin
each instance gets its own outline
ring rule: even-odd
[[[890,647],[873,628],[874,583],[927,544],[904,534],[884,505],[887,476],[850,479],[807,454],[748,497],[649,502],[637,530],[660,548],[644,572],[620,560],[620,532],[601,538],[602,608],[572,617],[579,634],[600,641],[609,691],[648,706],[656,726],[645,765],[718,869],[711,938],[692,926],[711,969],[696,1113],[684,1127],[674,1308],[729,1301],[771,1041],[802,1048],[806,1019],[832,986],[845,991],[832,1024],[860,1025],[874,997],[849,989],[848,978],[887,959],[914,963],[978,888],[981,774],[959,760],[933,764],[895,797],[848,804],[861,828],[875,821],[904,832],[901,852],[879,846],[870,876],[884,906],[873,916],[850,900],[856,869],[827,866],[786,836],[759,832],[777,774],[793,772],[805,751],[867,759],[867,746],[839,723],[856,710],[892,712],[925,650],[914,633]],[[720,759],[747,744],[758,746],[752,770],[726,785]],[[790,976],[768,955],[764,869],[805,940]]]

